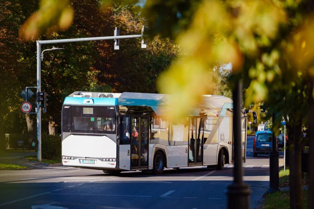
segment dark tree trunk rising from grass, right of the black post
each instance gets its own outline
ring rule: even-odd
[[[290,208],[303,208],[302,175],[301,175],[301,135],[302,121],[291,120],[293,126],[289,131],[289,166],[290,166]]]

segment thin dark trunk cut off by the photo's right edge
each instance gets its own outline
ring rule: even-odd
[[[314,99],[313,99],[313,79],[310,78],[308,82],[309,92],[308,92],[308,104],[309,104],[309,114],[308,114],[308,136],[310,144],[310,159],[309,159],[309,198],[308,206],[309,208],[314,208]]]

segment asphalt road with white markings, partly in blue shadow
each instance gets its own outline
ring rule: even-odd
[[[252,156],[248,137],[244,180],[255,208],[269,185],[267,155]],[[71,167],[0,171],[0,208],[226,208],[233,164],[224,170],[166,169],[162,175]]]

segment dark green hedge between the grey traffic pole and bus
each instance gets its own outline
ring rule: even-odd
[[[61,138],[57,135],[41,134],[41,153],[43,159],[61,159]]]

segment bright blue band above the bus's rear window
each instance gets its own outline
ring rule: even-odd
[[[94,104],[83,103],[85,99],[92,99]],[[63,105],[118,105],[118,98],[66,97]]]

